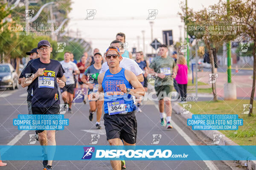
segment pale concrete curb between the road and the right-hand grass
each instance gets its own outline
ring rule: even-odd
[[[186,120],[192,118],[193,113],[191,113],[191,112],[189,112],[188,114],[181,114],[182,111],[183,111],[183,108],[177,102],[172,102],[172,109],[176,113],[183,116],[183,118],[185,118]],[[198,131],[201,131],[209,139],[213,138],[213,134],[221,134],[222,135],[221,141],[217,145],[239,145],[239,144],[233,142],[231,139],[226,137],[223,133],[219,132],[218,130],[198,130]],[[233,152],[233,154],[234,154],[234,152]],[[239,155],[239,153],[235,153],[235,154]],[[239,162],[242,165],[247,166],[248,170],[256,170],[256,161],[254,161],[254,160],[246,160],[246,161],[245,160],[239,160]]]

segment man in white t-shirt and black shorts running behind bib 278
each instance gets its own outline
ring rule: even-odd
[[[61,96],[65,104],[68,104],[67,113],[72,113],[71,106],[74,97],[74,88],[76,88],[74,75],[80,73],[76,64],[70,60],[70,57],[70,52],[66,51],[64,53],[64,60],[61,61],[61,65],[65,71],[64,75],[67,80],[66,85],[61,88]]]

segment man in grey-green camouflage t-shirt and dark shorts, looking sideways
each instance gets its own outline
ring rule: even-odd
[[[170,129],[172,128],[172,125],[170,123],[172,116],[171,95],[173,88],[173,79],[175,79],[177,75],[177,68],[174,59],[167,56],[167,46],[160,45],[159,48],[160,56],[155,57],[154,60],[150,63],[149,72],[157,74],[154,88],[157,92],[157,98],[159,100],[161,125],[166,126],[167,121],[167,128]],[[167,118],[166,114],[164,113],[164,104],[166,104]]]

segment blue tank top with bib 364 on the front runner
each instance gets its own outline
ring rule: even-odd
[[[102,81],[105,113],[112,115],[136,110],[131,94],[124,94],[116,86],[120,84],[125,84],[126,88],[132,88],[132,85],[125,78],[125,69],[122,68],[117,74],[111,74],[108,69]]]

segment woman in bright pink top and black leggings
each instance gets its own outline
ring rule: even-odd
[[[186,65],[186,59],[184,56],[180,55],[177,58],[178,71],[176,76],[176,81],[180,89],[180,101],[186,101],[186,88],[188,84],[188,66]]]

